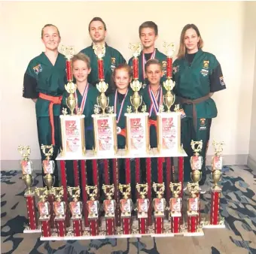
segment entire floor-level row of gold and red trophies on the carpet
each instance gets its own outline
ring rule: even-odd
[[[202,225],[204,227],[223,227],[224,221],[220,219],[219,204],[221,187],[218,186],[218,181],[221,177],[222,168],[222,145],[223,143],[213,143],[215,147],[215,156],[212,157],[212,179],[214,186],[212,187],[211,213],[210,221],[206,222],[200,216],[200,187],[199,181],[201,178],[201,167],[203,164],[200,151],[202,149],[202,141],[191,141],[191,147],[194,150],[194,156],[190,158],[192,168],[191,180],[193,183],[187,184],[187,223],[183,225],[183,210],[186,204],[183,204],[182,199],[182,184],[167,183],[172,198],[169,199],[169,205],[166,205],[165,183],[153,183],[148,186],[148,183],[136,183],[136,191],[139,198],[136,204],[133,204],[130,184],[119,184],[118,191],[122,195],[119,200],[113,199],[114,184],[103,184],[102,190],[105,193],[105,200],[99,202],[99,188],[97,186],[79,186],[68,187],[70,201],[63,201],[64,189],[63,186],[53,187],[53,164],[50,160],[53,154],[52,146],[41,146],[46,159],[43,161],[44,168],[44,183],[47,187],[35,188],[32,191],[32,162],[29,159],[29,147],[19,147],[20,153],[23,156],[21,162],[23,168],[23,180],[26,183],[27,190],[25,193],[26,204],[28,209],[29,227],[27,231],[38,230],[38,219],[35,209],[35,195],[38,196],[38,213],[39,222],[41,224],[42,237],[107,237],[118,236],[125,234],[129,235],[161,235],[161,234],[202,234]],[[156,197],[153,201],[147,198],[148,189],[153,188]],[[81,189],[85,189],[89,198],[84,201],[85,197],[81,197]],[[168,201],[168,200],[167,200]],[[154,210],[154,226],[151,222],[151,213],[149,210]],[[87,218],[82,221],[83,209],[87,210]],[[133,214],[136,211],[136,216]],[[104,218],[101,217],[101,212],[104,211]],[[72,229],[69,231],[69,216],[72,214]],[[120,224],[117,222],[117,213],[120,213]],[[85,213],[84,213],[85,214]],[[89,227],[86,227],[86,221],[89,222]],[[166,222],[167,221],[167,222]],[[104,226],[105,223],[105,226]],[[85,227],[84,227],[85,226]],[[103,229],[104,228],[104,229]],[[40,230],[40,229],[39,229]],[[44,239],[44,238],[42,238]]]

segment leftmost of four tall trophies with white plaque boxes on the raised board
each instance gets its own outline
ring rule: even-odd
[[[66,98],[66,105],[70,113],[63,108],[60,115],[60,126],[62,135],[62,153],[63,157],[74,157],[85,155],[85,136],[84,136],[84,108],[78,108],[77,85],[73,83],[72,57],[74,56],[74,47],[62,46],[62,53],[66,56],[66,72],[68,83],[65,89],[69,92]],[[87,91],[84,96],[87,96]]]

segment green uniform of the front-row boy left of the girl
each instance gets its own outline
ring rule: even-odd
[[[93,118],[92,114],[94,113],[94,105],[97,101],[97,96],[99,95],[99,91],[96,87],[92,86],[88,83],[84,89],[84,95],[81,95],[78,89],[76,89],[75,97],[78,99],[78,107],[82,107],[84,105],[84,135],[85,135],[85,146],[87,150],[92,150],[94,147],[94,133],[93,133]],[[68,92],[64,92],[62,98],[62,107],[67,107],[66,105],[66,98],[69,97]],[[68,109],[68,112],[70,110]],[[76,112],[76,109],[75,109]],[[70,112],[69,112],[70,113]],[[79,162],[80,163],[80,162]],[[78,165],[80,168],[80,165]],[[81,170],[79,179],[81,180]],[[68,186],[75,186],[75,179],[73,173],[73,161],[66,161],[66,174],[67,174],[67,184]],[[93,174],[92,174],[92,164],[91,161],[87,161],[87,184],[93,183]]]

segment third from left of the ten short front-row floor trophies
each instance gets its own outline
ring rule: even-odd
[[[69,209],[72,213],[72,222],[74,229],[74,236],[80,237],[83,235],[82,225],[82,202],[80,201],[80,187],[69,187],[68,192],[72,201],[69,202]]]

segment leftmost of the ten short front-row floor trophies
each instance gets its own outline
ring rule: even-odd
[[[38,201],[38,212],[39,221],[41,224],[42,237],[50,237],[50,203],[47,201],[47,187],[35,188],[35,193],[39,198]]]

